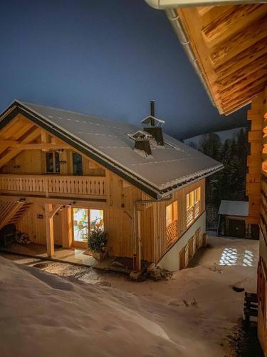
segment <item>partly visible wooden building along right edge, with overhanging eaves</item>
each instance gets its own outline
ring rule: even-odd
[[[246,223],[260,226],[258,337],[267,355],[266,1],[146,0],[167,17],[220,114],[251,104]],[[248,4],[248,3],[251,4]],[[209,6],[203,6],[204,4]],[[198,6],[199,5],[199,6]]]

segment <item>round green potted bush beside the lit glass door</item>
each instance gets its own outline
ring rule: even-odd
[[[101,260],[107,253],[107,233],[103,229],[95,226],[88,235],[88,248],[95,259]]]

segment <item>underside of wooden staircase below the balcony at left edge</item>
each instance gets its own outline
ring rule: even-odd
[[[32,203],[19,201],[0,201],[0,229],[6,224],[15,224],[28,211]]]

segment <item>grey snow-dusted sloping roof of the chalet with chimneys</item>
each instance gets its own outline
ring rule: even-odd
[[[0,114],[0,130],[17,114],[153,198],[160,199],[223,168],[218,161],[166,134],[164,146],[153,147],[152,158],[147,160],[133,150],[135,142],[128,136],[138,131],[136,126],[21,101],[14,101]]]

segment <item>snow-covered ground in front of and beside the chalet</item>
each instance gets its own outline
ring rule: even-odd
[[[244,304],[231,287],[242,281],[256,292],[258,241],[210,244],[199,266],[143,283],[66,263],[49,262],[43,272],[31,268],[36,259],[0,257],[1,356],[231,356],[227,336]]]

